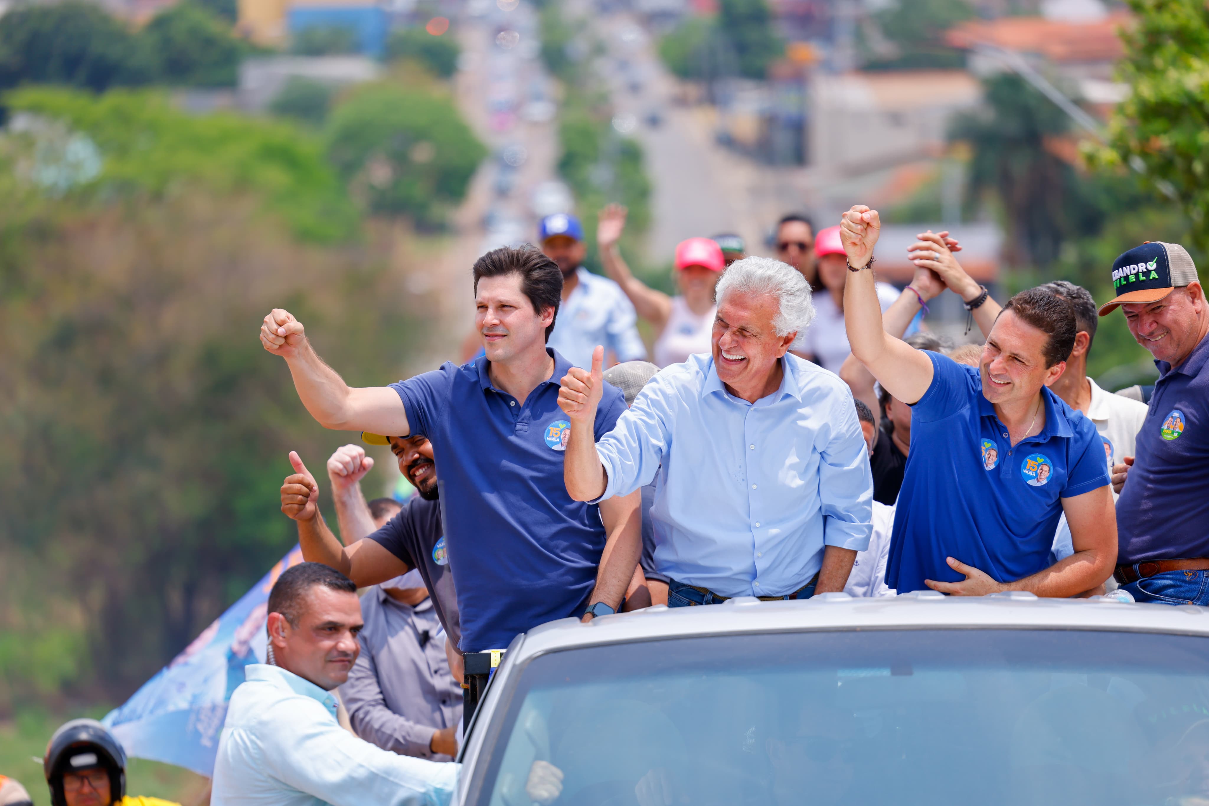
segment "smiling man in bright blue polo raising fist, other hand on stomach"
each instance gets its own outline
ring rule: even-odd
[[[1094,423],[1046,388],[1075,343],[1074,308],[1043,289],[1017,294],[977,370],[913,349],[881,329],[870,271],[880,226],[864,205],[841,222],[852,355],[913,407],[886,585],[966,596],[1095,591],[1117,553],[1104,447]],[[1049,566],[1063,512],[1075,553]]]

